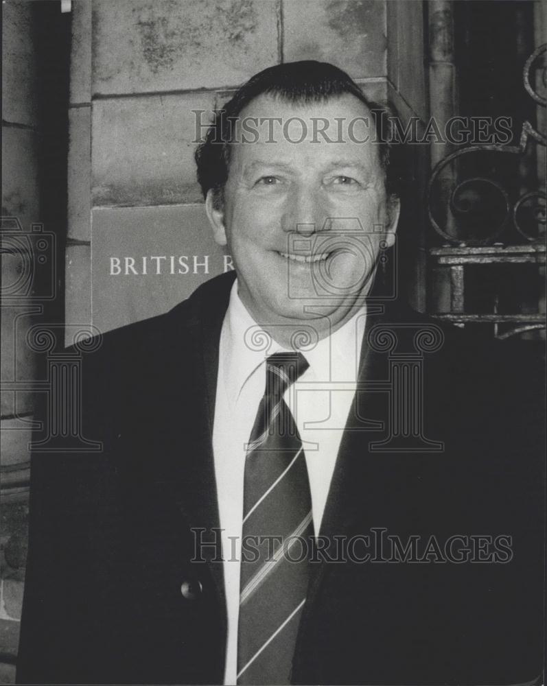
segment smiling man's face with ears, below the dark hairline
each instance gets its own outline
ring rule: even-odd
[[[271,131],[261,117],[277,119]],[[378,145],[360,142],[374,138],[370,113],[349,94],[309,105],[261,95],[245,118],[258,140],[233,143],[222,211],[207,200],[240,298],[263,326],[326,316],[336,329],[362,303],[380,244],[395,239],[398,206],[390,220]]]

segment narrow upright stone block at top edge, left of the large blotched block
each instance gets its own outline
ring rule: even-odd
[[[72,3],[70,102],[91,102],[91,0]]]

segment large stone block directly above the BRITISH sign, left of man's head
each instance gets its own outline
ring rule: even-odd
[[[95,100],[93,205],[200,202],[194,141],[203,131],[196,121],[211,119],[214,99],[196,93]]]

